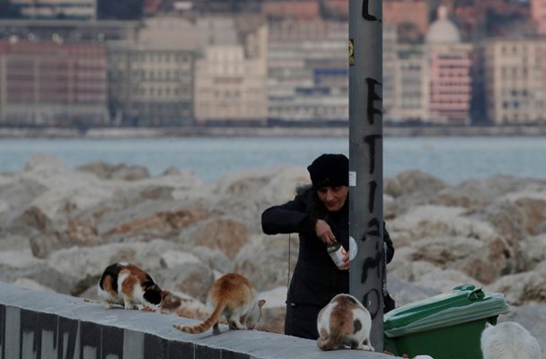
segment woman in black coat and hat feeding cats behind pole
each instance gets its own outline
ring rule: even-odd
[[[261,215],[266,234],[299,233],[300,247],[286,299],[285,334],[316,339],[321,308],[339,293],[348,293],[348,158],[325,153],[307,167],[312,185],[301,188],[284,205]],[[394,254],[384,231],[387,261]],[[343,264],[337,267],[326,248],[332,241],[343,246]]]

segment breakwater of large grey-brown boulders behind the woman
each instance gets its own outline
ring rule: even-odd
[[[38,154],[24,171],[0,173],[0,280],[92,299],[102,269],[128,260],[172,291],[169,311],[203,318],[208,287],[236,271],[267,300],[260,329],[282,332],[298,240],[264,235],[260,213],[308,182],[300,167],[206,184],[180,169],[152,177],[93,162],[73,170]],[[483,286],[506,295],[511,311],[500,320],[522,323],[546,353],[546,181],[498,176],[450,186],[406,171],[383,189],[397,304]]]

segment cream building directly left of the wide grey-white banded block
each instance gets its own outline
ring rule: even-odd
[[[199,125],[249,126],[267,121],[267,26],[242,34],[233,22],[232,31],[244,39],[231,44],[208,42],[196,59],[194,99]]]

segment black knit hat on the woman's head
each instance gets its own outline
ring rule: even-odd
[[[313,188],[348,186],[348,158],[345,154],[324,153],[308,167]]]

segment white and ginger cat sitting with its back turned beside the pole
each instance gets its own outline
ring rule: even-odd
[[[319,312],[317,346],[332,350],[350,346],[351,349],[374,351],[370,343],[372,318],[357,298],[338,294]]]

